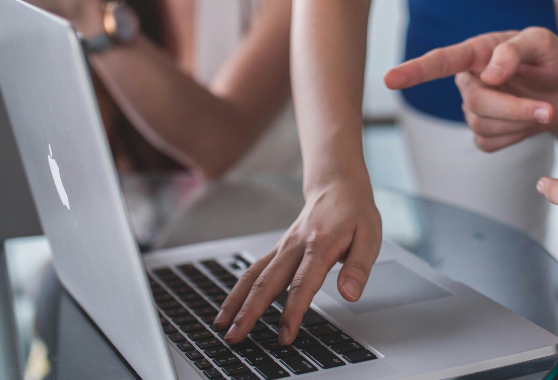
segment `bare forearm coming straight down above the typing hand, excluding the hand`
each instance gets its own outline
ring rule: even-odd
[[[362,92],[369,0],[295,0],[292,86],[305,192],[339,173],[365,178]]]

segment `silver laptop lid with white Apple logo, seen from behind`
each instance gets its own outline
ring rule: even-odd
[[[143,379],[176,378],[69,23],[0,0],[0,90],[60,280]]]

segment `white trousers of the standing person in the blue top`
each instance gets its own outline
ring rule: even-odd
[[[549,202],[538,178],[554,163],[554,139],[540,134],[496,153],[482,152],[464,123],[403,105],[401,127],[419,192],[475,211],[545,241]]]

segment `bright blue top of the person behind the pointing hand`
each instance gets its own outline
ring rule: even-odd
[[[481,33],[542,26],[556,32],[553,0],[408,0],[405,60]],[[454,78],[402,91],[414,108],[442,119],[463,121]]]

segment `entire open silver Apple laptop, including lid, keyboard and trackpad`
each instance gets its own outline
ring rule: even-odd
[[[0,0],[0,90],[60,280],[143,379],[436,380],[556,353],[555,335],[387,242],[357,303],[331,270],[289,352],[280,300],[227,347],[213,310],[280,233],[142,258],[78,38],[20,0]]]

